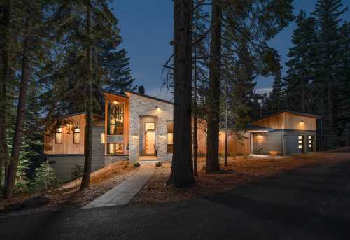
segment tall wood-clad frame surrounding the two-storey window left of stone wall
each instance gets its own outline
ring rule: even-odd
[[[104,136],[106,137],[105,143],[107,143],[108,136],[108,104],[113,103],[113,101],[117,101],[118,103],[124,103],[124,134],[123,134],[123,154],[129,155],[129,150],[127,150],[127,146],[129,145],[130,139],[130,100],[127,97],[118,96],[115,94],[104,93],[105,96],[105,110],[104,110]],[[105,153],[107,155],[107,144]]]

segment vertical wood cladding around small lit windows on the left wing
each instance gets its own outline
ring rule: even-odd
[[[55,133],[46,131],[44,137],[44,154],[84,154],[85,115],[74,115],[66,118],[62,126],[62,143],[55,143]],[[80,128],[80,143],[73,143],[73,128]]]

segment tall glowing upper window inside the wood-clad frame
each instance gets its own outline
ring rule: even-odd
[[[109,104],[108,134],[124,134],[124,104]]]

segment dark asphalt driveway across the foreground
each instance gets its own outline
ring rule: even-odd
[[[350,239],[349,160],[187,202],[0,219],[0,239]]]

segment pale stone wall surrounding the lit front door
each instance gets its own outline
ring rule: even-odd
[[[173,120],[173,105],[130,93],[130,162],[139,160],[140,116],[142,115],[157,117],[155,145],[158,150],[158,160],[172,161],[172,153],[167,153],[167,121]]]

